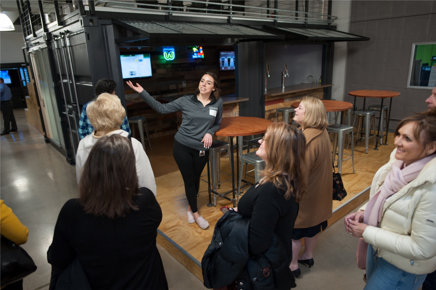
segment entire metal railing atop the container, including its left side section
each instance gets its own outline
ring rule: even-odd
[[[94,5],[92,5],[94,4]],[[90,6],[89,6],[90,5]],[[331,14],[331,1],[328,0],[208,0],[208,1],[174,1],[174,0],[17,0],[20,21],[24,36],[36,37],[41,28],[82,9],[84,6],[121,8],[150,14],[165,14],[168,19],[173,15],[186,17],[217,17],[232,20],[270,21],[272,24],[299,23],[330,25],[337,19]],[[104,8],[103,8],[104,9]],[[119,10],[120,12],[123,10]]]

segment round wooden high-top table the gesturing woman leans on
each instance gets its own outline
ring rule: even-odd
[[[239,146],[239,143],[242,144],[242,136],[249,135],[257,135],[266,132],[266,128],[268,128],[269,124],[272,122],[262,118],[255,117],[224,117],[221,119],[220,129],[215,133],[216,136],[227,136],[230,137],[230,144],[233,146],[233,137],[236,138],[236,172],[237,172],[237,180],[239,180],[239,151],[241,151],[242,155],[242,147]],[[209,204],[211,203],[211,192],[215,193],[222,198],[228,199],[233,203],[233,206],[236,206],[235,199],[235,165],[233,160],[233,150],[230,150],[230,167],[232,169],[232,193],[233,199],[229,199],[225,194],[230,193],[218,193],[211,190],[211,185],[209,181]],[[209,161],[208,161],[209,163]],[[209,164],[208,164],[208,174],[209,174]]]

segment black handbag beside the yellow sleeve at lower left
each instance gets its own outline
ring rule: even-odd
[[[36,271],[31,256],[20,246],[5,238],[0,239],[0,287],[15,283]]]

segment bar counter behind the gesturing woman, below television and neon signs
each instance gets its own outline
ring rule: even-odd
[[[183,95],[158,97],[156,100],[162,104],[166,104],[181,97],[183,97]],[[222,112],[223,117],[239,116],[239,102],[249,100],[249,98],[237,98],[236,94],[225,94],[222,95],[221,98],[224,105]],[[129,117],[146,117],[150,138],[175,134],[182,122],[181,111],[170,114],[160,114],[147,105],[146,102],[140,98],[139,94],[126,94],[126,101],[129,104],[127,106],[127,115]],[[138,130],[137,127],[135,127],[134,130]]]

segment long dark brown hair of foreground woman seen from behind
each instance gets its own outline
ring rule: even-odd
[[[87,213],[113,219],[138,209],[135,153],[132,143],[118,134],[106,135],[95,143],[82,170],[79,202]]]

